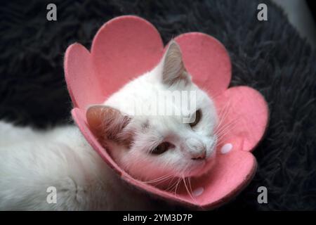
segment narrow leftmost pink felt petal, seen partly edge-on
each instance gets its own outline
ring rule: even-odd
[[[97,77],[94,75],[91,56],[81,44],[72,44],[65,53],[65,79],[75,107],[103,101]]]

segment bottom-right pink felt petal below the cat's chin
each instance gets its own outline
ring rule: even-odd
[[[249,184],[256,172],[254,155],[245,151],[231,150],[216,155],[216,165],[204,179],[192,181],[192,188],[203,187],[204,194],[197,196],[202,207],[222,205]]]

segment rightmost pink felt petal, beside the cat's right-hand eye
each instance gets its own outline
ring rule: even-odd
[[[236,86],[215,98],[222,142],[241,143],[240,150],[253,150],[268,123],[268,105],[263,96],[248,86]]]

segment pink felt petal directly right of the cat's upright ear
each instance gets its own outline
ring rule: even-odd
[[[223,44],[203,33],[191,32],[175,38],[193,81],[217,96],[228,88],[231,78],[230,57]]]

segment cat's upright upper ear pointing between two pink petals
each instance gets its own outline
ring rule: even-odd
[[[162,82],[171,86],[177,82],[188,84],[190,81],[190,76],[185,70],[180,46],[176,41],[171,41],[162,59]]]

